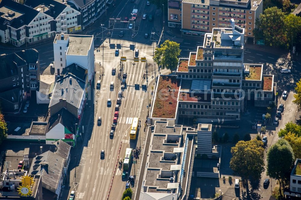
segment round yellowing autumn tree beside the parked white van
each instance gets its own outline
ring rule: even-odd
[[[248,179],[259,179],[264,171],[264,160],[262,141],[250,140],[239,141],[235,147],[231,148],[232,158],[230,168],[244,180],[246,180],[246,189],[248,189]],[[248,195],[248,193],[247,193]]]

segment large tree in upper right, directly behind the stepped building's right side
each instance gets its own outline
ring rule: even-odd
[[[288,47],[284,18],[284,13],[277,7],[265,9],[264,14],[256,19],[257,28],[253,29],[255,39],[265,39],[268,46]]]

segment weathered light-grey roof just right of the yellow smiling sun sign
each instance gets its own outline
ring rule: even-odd
[[[51,151],[36,156],[29,169],[29,174],[42,175],[42,187],[55,193],[64,169],[65,159]]]

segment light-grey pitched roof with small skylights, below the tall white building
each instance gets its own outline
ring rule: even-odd
[[[74,76],[68,74],[63,78],[57,80],[53,94],[50,100],[49,108],[61,100],[66,101],[76,108],[80,107],[80,101],[83,93],[85,92],[85,82]]]

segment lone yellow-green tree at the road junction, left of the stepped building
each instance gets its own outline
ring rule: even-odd
[[[171,72],[176,70],[178,65],[178,56],[180,55],[180,44],[174,41],[166,40],[160,48],[155,50],[154,61],[162,68],[167,68]]]

